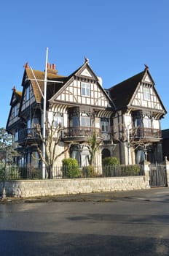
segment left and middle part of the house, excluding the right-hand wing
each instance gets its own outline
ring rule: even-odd
[[[60,132],[54,135],[51,146],[45,149],[46,153],[52,151],[59,156],[52,165],[61,165],[66,157],[75,158],[81,166],[88,165],[90,138],[93,136],[98,145],[95,165],[101,165],[102,157],[113,154],[111,116],[114,113],[114,104],[103,89],[101,78],[95,75],[87,59],[67,77],[58,75],[55,64],[48,63],[44,124],[44,75],[26,63],[23,91],[12,89],[6,129],[13,135],[15,149],[20,153],[17,165],[42,167],[39,154],[43,153],[43,129],[46,130],[46,138],[51,140],[52,132],[58,127]],[[49,131],[50,135],[47,135]]]

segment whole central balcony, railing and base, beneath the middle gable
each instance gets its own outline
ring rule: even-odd
[[[95,127],[67,127],[63,130],[64,141],[87,141],[93,135],[101,140],[101,129]]]

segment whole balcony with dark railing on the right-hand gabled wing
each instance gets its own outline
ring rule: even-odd
[[[161,129],[138,127],[135,132],[130,133],[131,138],[150,142],[157,142],[162,138]]]

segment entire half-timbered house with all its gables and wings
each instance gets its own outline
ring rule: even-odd
[[[20,154],[17,165],[42,167],[44,134],[51,142],[45,154],[48,159],[49,152],[56,156],[52,165],[61,165],[68,157],[80,166],[89,165],[93,136],[95,165],[101,166],[102,159],[111,156],[124,164],[162,161],[160,119],[167,111],[148,67],[105,90],[88,59],[68,76],[59,75],[55,64],[48,63],[45,118],[44,78],[45,72],[26,63],[23,91],[12,89],[6,129]]]

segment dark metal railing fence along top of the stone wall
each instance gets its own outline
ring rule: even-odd
[[[98,178],[98,177],[123,177],[144,176],[144,165],[102,165],[76,167],[71,165],[52,167],[51,178]],[[41,179],[42,170],[36,168],[23,168],[7,166],[6,170],[0,170],[0,181],[12,181],[18,179]]]

